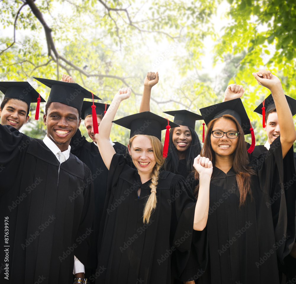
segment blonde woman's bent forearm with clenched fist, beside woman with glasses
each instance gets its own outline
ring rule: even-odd
[[[199,173],[199,191],[194,211],[193,229],[202,231],[207,224],[210,202],[210,181],[213,164],[209,158],[198,155],[194,159],[193,167]]]

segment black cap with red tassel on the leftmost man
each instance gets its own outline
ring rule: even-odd
[[[25,101],[29,106],[32,102],[37,102],[35,120],[39,118],[40,102],[45,100],[40,94],[29,84],[29,82],[0,82],[0,91],[5,98],[16,98]]]

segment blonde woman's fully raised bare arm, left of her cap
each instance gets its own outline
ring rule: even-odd
[[[108,170],[110,168],[112,157],[115,154],[115,150],[109,142],[112,121],[114,120],[115,114],[118,110],[120,103],[124,99],[128,99],[130,95],[131,87],[119,89],[118,93],[115,94],[110,107],[108,108],[106,114],[104,115],[99,125],[99,133],[95,135],[100,154]]]

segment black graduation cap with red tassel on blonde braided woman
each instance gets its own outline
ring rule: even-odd
[[[161,130],[166,129],[163,146],[163,158],[168,156],[169,129],[179,125],[149,111],[128,115],[112,121],[131,130],[130,138],[134,135],[152,135],[161,141]]]

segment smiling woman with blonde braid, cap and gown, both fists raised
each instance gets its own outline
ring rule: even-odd
[[[194,168],[200,174],[197,202],[184,177],[160,171],[163,165],[161,130],[177,125],[151,112],[115,120],[131,130],[128,152],[135,168],[123,155],[115,154],[109,140],[112,120],[130,88],[115,95],[99,126],[98,147],[109,169],[108,189],[101,220],[99,264],[96,283],[171,283],[190,254],[193,230],[207,223],[212,163],[197,156]],[[166,145],[166,143],[165,143]],[[205,269],[206,233],[197,234],[200,262],[192,271]]]

